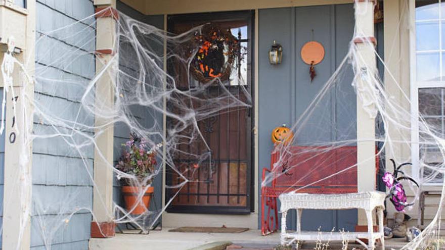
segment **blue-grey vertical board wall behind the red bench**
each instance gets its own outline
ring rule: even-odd
[[[303,114],[346,55],[353,28],[354,10],[351,4],[259,11],[259,173],[262,168],[270,166],[272,129],[281,124],[292,125]],[[310,82],[309,66],[302,62],[300,49],[305,42],[313,39],[323,44],[326,54],[323,62],[316,66],[316,78]],[[283,45],[281,65],[270,65],[268,61],[268,51],[274,40]],[[356,97],[350,85],[352,71],[343,77],[344,84],[330,90],[323,102],[330,104],[325,108],[335,107],[338,101],[336,94],[341,91],[342,96],[350,98],[341,102],[347,101],[350,105],[330,110],[316,109],[307,124],[317,125],[302,128],[296,138],[299,144],[355,138]],[[272,99],[274,105],[270,105]],[[339,117],[345,113],[349,115]],[[337,121],[335,129],[331,125],[334,120]],[[260,178],[258,176],[259,183]],[[356,223],[357,212],[353,210],[307,210],[303,212],[302,228],[317,230],[323,226],[322,230],[326,231],[333,227],[353,230]],[[288,219],[288,224],[295,228],[294,213]]]

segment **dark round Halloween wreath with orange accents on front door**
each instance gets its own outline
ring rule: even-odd
[[[201,32],[192,37],[192,49],[196,52],[191,63],[191,72],[196,80],[207,83],[215,78],[229,79],[235,58],[239,52],[239,42],[230,30],[221,30],[213,24],[206,24]]]

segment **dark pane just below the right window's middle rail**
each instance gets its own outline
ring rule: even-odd
[[[419,113],[422,116],[442,115],[442,90],[440,88],[419,89]]]

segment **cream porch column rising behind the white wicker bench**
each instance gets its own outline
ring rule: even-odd
[[[376,73],[373,47],[374,1],[355,0],[355,35],[357,65],[355,87],[357,89],[357,185],[358,191],[371,191],[376,187],[375,119],[370,112],[374,107],[368,101],[373,98],[374,86],[370,80]],[[364,211],[358,212],[358,225],[367,225]]]

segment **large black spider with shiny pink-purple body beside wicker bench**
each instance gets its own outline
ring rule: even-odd
[[[417,184],[417,182],[413,178],[406,176],[405,173],[402,170],[400,170],[400,168],[402,168],[403,166],[412,165],[412,163],[406,162],[396,167],[395,161],[393,159],[389,160],[392,162],[392,165],[394,166],[394,172],[392,174],[389,172],[385,172],[385,174],[382,177],[383,182],[389,188],[389,193],[388,195],[386,195],[386,197],[389,197],[389,200],[394,205],[395,210],[405,212],[405,208],[413,206],[414,203],[407,202],[407,194],[405,193],[405,189],[402,183],[400,183],[400,181],[402,180],[411,181],[414,184],[416,184],[417,187],[419,187],[419,184]],[[397,177],[398,174],[402,174],[402,176]]]

